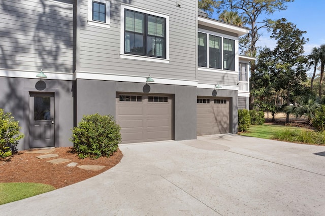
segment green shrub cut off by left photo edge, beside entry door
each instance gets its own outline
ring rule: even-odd
[[[10,159],[17,151],[19,139],[24,137],[20,133],[19,122],[15,121],[11,113],[5,113],[0,109],[0,158]]]

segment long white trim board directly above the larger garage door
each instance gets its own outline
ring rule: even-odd
[[[167,85],[181,85],[181,86],[197,86],[198,81],[196,80],[178,80],[178,79],[166,79],[159,77],[152,77],[155,84],[167,84]],[[118,81],[118,82],[132,82],[132,83],[146,83],[147,77],[137,77],[130,75],[119,75],[119,74],[100,74],[91,73],[88,71],[76,71],[75,79],[85,80],[107,80],[107,81]]]

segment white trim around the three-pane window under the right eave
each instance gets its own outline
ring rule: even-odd
[[[222,45],[222,49],[221,49],[221,69],[217,69],[217,68],[210,68],[210,67],[198,67],[198,68],[206,68],[206,69],[211,69],[211,70],[223,70],[223,71],[227,71],[227,72],[235,72],[237,71],[236,68],[239,67],[239,42],[238,42],[238,38],[237,37],[234,37],[232,35],[227,35],[227,34],[222,34],[222,33],[217,33],[217,32],[214,32],[214,31],[209,31],[209,30],[206,30],[206,29],[202,29],[202,28],[199,28],[198,29],[198,32],[200,33],[205,33],[207,34],[207,42],[209,42],[209,35],[214,35],[214,36],[217,36],[217,37],[221,37],[221,45]],[[223,69],[223,38],[226,38],[226,39],[231,39],[231,40],[234,40],[235,41],[235,70],[227,70],[227,69]],[[208,43],[209,44],[209,43]],[[207,44],[207,46],[208,46]],[[207,53],[207,59],[209,59],[209,52]],[[209,65],[208,65],[209,66]],[[238,72],[237,72],[238,74]]]

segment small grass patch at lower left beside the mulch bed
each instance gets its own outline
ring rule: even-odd
[[[0,183],[0,205],[53,190],[53,186],[39,183]]]

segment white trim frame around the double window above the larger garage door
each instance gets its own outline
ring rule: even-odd
[[[141,55],[132,55],[124,53],[124,11],[125,9],[129,9],[132,11],[137,11],[145,14],[150,14],[157,17],[163,17],[166,19],[166,58],[156,58],[150,56],[141,56]],[[120,21],[120,57],[134,60],[144,60],[144,61],[153,61],[160,63],[169,63],[169,16],[165,14],[159,14],[154,11],[143,10],[140,8],[131,7],[128,5],[121,5],[121,21]]]

